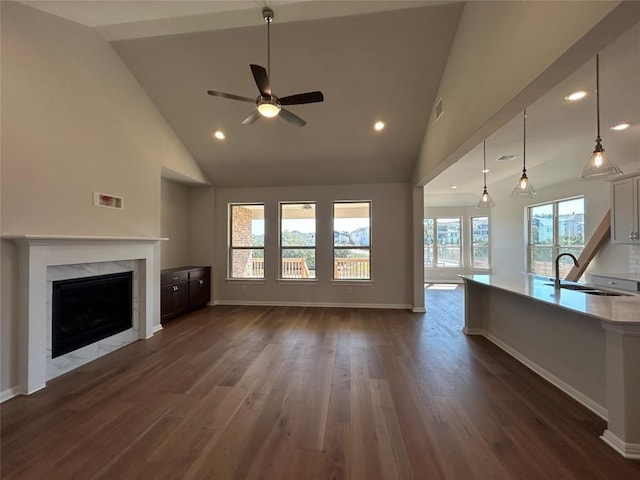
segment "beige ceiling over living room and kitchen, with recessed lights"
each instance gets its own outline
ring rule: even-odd
[[[216,186],[410,181],[463,3],[450,1],[23,1],[95,28]],[[321,90],[323,103],[241,125],[256,97],[250,63],[266,66],[262,7],[271,26],[274,93]],[[505,39],[508,41],[508,39]],[[496,79],[498,81],[499,79]],[[564,96],[586,90],[581,102]],[[479,93],[481,94],[481,93]],[[603,144],[625,172],[640,169],[640,25],[601,52]],[[577,177],[595,138],[595,62],[527,107],[527,170],[537,189]],[[386,128],[373,130],[382,120]],[[620,122],[631,127],[615,132]],[[224,132],[224,141],[213,138]],[[487,138],[487,184],[505,198],[522,169],[522,116]],[[474,205],[478,145],[425,189],[429,205]],[[451,187],[456,185],[454,190]]]

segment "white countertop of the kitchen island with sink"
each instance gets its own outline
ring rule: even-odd
[[[553,288],[553,280],[533,275],[460,275],[460,277],[610,323],[640,325],[640,295],[604,297],[567,289],[556,292]]]

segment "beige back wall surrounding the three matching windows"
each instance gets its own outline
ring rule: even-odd
[[[332,282],[332,201],[371,200],[371,271],[368,284]],[[278,281],[278,202],[317,202],[315,282]],[[265,204],[264,281],[227,280],[227,206]],[[219,303],[413,306],[413,189],[408,184],[325,185],[216,190],[214,300]]]

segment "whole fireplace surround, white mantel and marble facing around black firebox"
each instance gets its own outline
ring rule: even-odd
[[[17,393],[138,340],[160,326],[160,241],[152,237],[3,236],[19,246]],[[133,272],[132,327],[53,358],[53,283]]]

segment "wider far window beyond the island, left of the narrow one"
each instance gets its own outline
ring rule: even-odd
[[[424,266],[426,268],[462,267],[461,219],[424,219]]]

